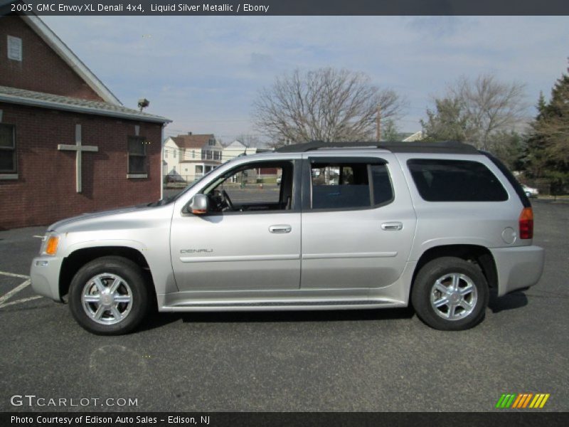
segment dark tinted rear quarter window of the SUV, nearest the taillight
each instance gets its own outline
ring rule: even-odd
[[[482,163],[469,160],[410,159],[415,186],[426,201],[506,201],[508,193]]]

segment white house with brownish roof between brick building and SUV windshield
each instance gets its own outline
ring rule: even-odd
[[[174,181],[188,181],[201,178],[225,161],[222,160],[223,146],[213,134],[178,135],[169,137],[164,143],[164,175]]]

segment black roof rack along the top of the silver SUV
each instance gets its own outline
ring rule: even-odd
[[[457,141],[441,142],[323,142],[312,141],[304,144],[285,145],[275,149],[278,153],[309,152],[317,149],[334,148],[381,148],[393,153],[440,153],[440,154],[479,154],[470,144]]]

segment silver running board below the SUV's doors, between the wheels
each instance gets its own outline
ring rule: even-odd
[[[317,301],[248,301],[248,302],[179,302],[160,311],[285,311],[285,310],[364,310],[385,307],[406,307],[393,300],[317,300]]]

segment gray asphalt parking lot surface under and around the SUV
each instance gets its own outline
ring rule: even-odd
[[[1,231],[0,410],[116,411],[100,406],[111,398],[137,399],[120,408],[133,411],[492,411],[502,393],[528,392],[551,394],[540,411],[568,411],[569,204],[534,211],[541,282],[493,296],[464,332],[397,309],[163,314],[97,337],[23,285],[45,228]],[[12,406],[18,394],[101,400]]]

